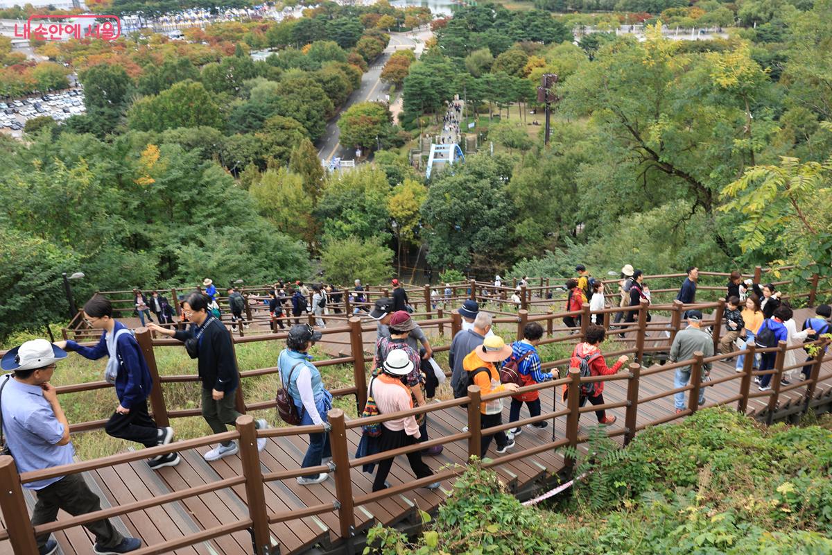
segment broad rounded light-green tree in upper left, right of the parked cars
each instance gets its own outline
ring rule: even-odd
[[[183,81],[155,97],[137,100],[127,112],[127,123],[141,131],[175,127],[222,127],[220,107],[201,82]]]

